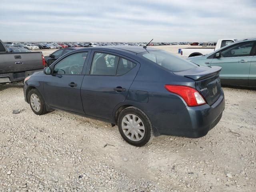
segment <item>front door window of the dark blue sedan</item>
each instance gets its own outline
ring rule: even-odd
[[[75,53],[54,66],[54,74],[82,74],[88,52]]]

